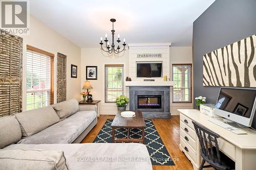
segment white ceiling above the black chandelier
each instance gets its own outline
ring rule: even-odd
[[[126,43],[192,46],[193,21],[215,0],[32,0],[31,14],[80,47],[99,47],[114,28]],[[117,36],[115,37],[117,38]]]

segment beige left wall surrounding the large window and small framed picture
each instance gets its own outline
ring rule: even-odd
[[[67,55],[67,99],[75,98],[80,99],[80,56],[81,48],[63,37],[59,33],[55,32],[50,27],[46,26],[44,23],[38,19],[30,16],[30,34],[23,36],[24,38],[24,74],[23,74],[23,108],[26,108],[26,45],[32,45],[34,47],[40,48],[47,52],[53,53],[55,55],[55,96],[56,101],[56,54],[57,52]],[[78,66],[78,77],[71,78],[71,64]]]

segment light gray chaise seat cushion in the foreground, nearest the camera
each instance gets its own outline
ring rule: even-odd
[[[146,145],[140,143],[12,144],[7,148],[61,150],[72,170],[151,170]]]

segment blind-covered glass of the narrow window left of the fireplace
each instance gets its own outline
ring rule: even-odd
[[[105,65],[105,103],[114,103],[123,95],[123,65]]]

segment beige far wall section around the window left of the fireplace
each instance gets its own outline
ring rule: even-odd
[[[126,47],[126,49],[128,49]],[[129,75],[129,51],[125,50],[120,55],[121,57],[109,57],[105,52],[102,53],[100,48],[81,48],[81,83],[80,91],[82,90],[83,82],[86,81],[86,66],[98,66],[98,79],[90,80],[93,89],[93,100],[101,100],[100,114],[115,114],[117,111],[116,104],[104,103],[104,64],[124,64],[124,77]],[[127,93],[126,93],[127,92]],[[129,91],[125,89],[125,95]],[[82,97],[80,97],[82,99]]]

